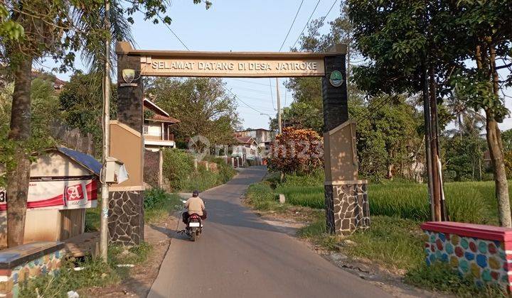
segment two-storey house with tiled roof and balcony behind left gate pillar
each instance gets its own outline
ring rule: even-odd
[[[179,122],[153,101],[144,99],[144,147],[151,151],[176,148],[172,126]]]

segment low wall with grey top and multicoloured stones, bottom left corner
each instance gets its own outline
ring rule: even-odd
[[[64,244],[35,242],[0,251],[0,297],[18,297],[19,283],[55,274],[64,257]]]

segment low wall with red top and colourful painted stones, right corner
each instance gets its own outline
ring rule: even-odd
[[[512,228],[471,223],[427,222],[425,262],[449,263],[476,285],[498,284],[512,289]]]

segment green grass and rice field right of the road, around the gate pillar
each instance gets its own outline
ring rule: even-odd
[[[319,177],[278,177],[252,184],[247,202],[262,211],[286,212],[292,206],[316,208],[316,220],[300,229],[298,236],[326,250],[341,252],[364,263],[378,264],[390,272],[404,275],[404,281],[417,287],[454,294],[457,297],[507,297],[503,289],[477,287],[470,277],[459,277],[445,264],[427,266],[420,223],[429,219],[424,184],[370,184],[371,228],[340,237],[326,233],[324,187]],[[445,184],[449,215],[454,221],[496,224],[496,202],[492,182],[454,182]],[[279,204],[285,194],[287,204]],[[315,209],[311,209],[315,210]]]

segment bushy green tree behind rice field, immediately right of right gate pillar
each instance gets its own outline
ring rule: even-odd
[[[397,172],[411,172],[422,143],[422,117],[412,100],[400,95],[375,97],[368,104],[353,101],[349,112],[358,123],[361,174],[380,180],[393,179]]]

